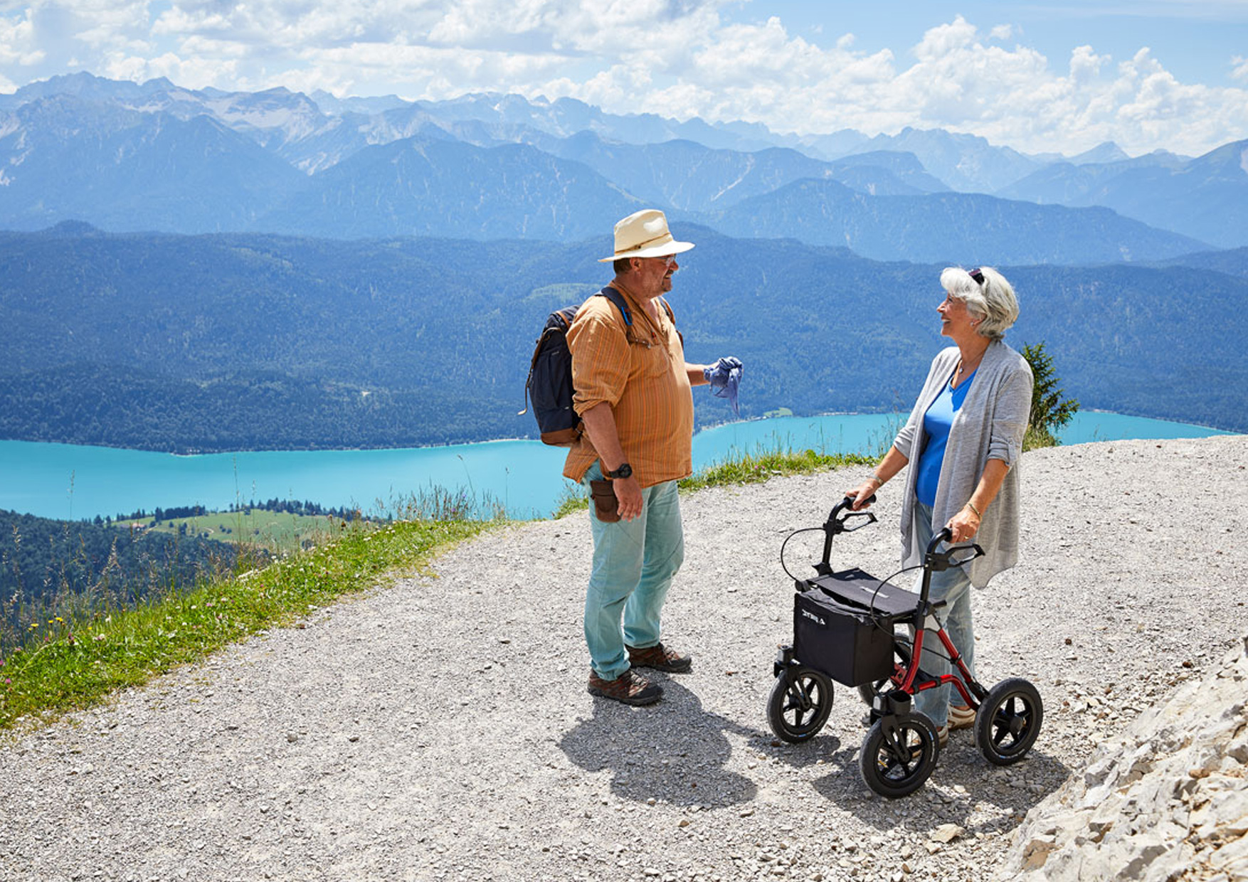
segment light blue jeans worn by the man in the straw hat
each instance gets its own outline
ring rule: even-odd
[[[582,479],[600,480],[594,463]],[[598,676],[614,680],[629,669],[624,645],[645,649],[659,642],[659,619],[671,578],[685,559],[676,482],[641,490],[641,514],[605,524],[589,505],[594,564],[585,593],[585,642]],[[623,621],[623,628],[622,628]]]

